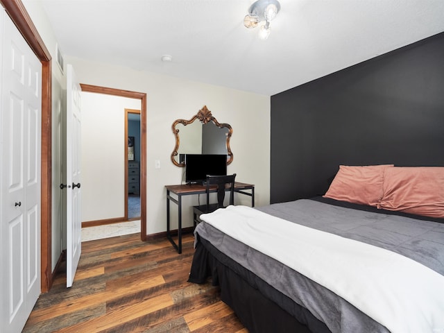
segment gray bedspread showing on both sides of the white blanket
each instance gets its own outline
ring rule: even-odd
[[[444,224],[297,200],[257,208],[287,221],[386,248],[444,275]],[[343,298],[280,262],[200,223],[196,233],[252,271],[336,332],[388,330]],[[295,254],[297,255],[297,254]],[[287,308],[291,313],[291,308]]]

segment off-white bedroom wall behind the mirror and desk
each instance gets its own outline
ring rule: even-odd
[[[166,230],[164,185],[178,184],[182,180],[183,169],[170,160],[175,144],[171,124],[176,119],[190,119],[203,105],[207,105],[220,123],[230,123],[233,128],[231,148],[234,160],[228,166],[228,172],[237,173],[237,180],[241,182],[256,185],[256,205],[269,203],[269,96],[78,58],[67,57],[67,62],[74,66],[80,83],[147,94],[148,234]],[[160,169],[155,169],[155,160],[161,161]],[[249,205],[250,198],[238,198],[237,203]],[[197,198],[185,197],[182,204],[184,226],[191,226],[189,205],[197,204]],[[172,214],[176,216],[173,210]],[[175,228],[174,223],[172,228]]]

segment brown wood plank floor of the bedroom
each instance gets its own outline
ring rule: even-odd
[[[83,242],[73,287],[59,273],[23,332],[248,332],[217,287],[187,282],[194,237],[182,241],[182,255],[139,234]]]

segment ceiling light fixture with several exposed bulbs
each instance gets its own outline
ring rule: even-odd
[[[244,18],[246,28],[255,28],[259,22],[265,22],[259,31],[259,38],[266,40],[270,35],[270,21],[278,15],[280,3],[278,0],[257,0],[248,8]]]

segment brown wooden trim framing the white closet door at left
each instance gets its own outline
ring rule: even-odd
[[[51,53],[35,28],[31,17],[20,0],[0,0],[6,13],[42,62],[42,155],[41,155],[41,203],[40,203],[40,242],[41,242],[41,292],[51,289],[51,107],[52,107],[52,61]]]

